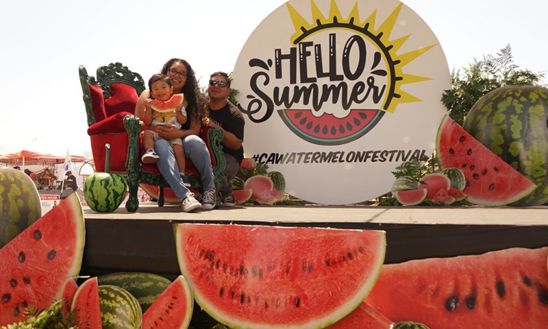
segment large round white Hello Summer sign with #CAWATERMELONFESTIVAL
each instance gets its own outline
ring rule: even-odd
[[[402,162],[431,156],[450,88],[425,22],[396,0],[288,1],[234,68],[247,157],[319,204],[384,195]]]

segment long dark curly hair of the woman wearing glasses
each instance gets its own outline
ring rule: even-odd
[[[206,97],[203,97],[198,82],[196,80],[196,74],[194,70],[192,69],[192,66],[188,64],[186,60],[183,60],[182,58],[171,58],[171,60],[168,60],[164,66],[162,66],[162,71],[160,73],[167,75],[167,70],[173,65],[175,62],[181,62],[186,66],[187,76],[186,76],[186,84],[183,87],[183,93],[184,97],[186,98],[186,101],[188,102],[188,106],[186,108],[186,112],[188,112],[188,116],[191,118],[191,120],[198,119],[201,123],[201,119],[204,117],[207,117],[207,111],[208,111],[208,100]],[[196,118],[193,118],[194,115],[196,115]]]

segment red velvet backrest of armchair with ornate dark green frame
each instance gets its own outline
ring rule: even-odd
[[[111,63],[97,69],[97,78],[90,77],[79,66],[80,85],[88,126],[121,112],[133,114],[137,99],[145,90],[145,82],[121,63]]]

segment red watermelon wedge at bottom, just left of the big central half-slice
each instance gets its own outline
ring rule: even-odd
[[[188,328],[193,308],[192,290],[184,276],[178,276],[142,315],[142,328]]]

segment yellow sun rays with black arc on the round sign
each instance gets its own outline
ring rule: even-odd
[[[397,19],[403,3],[399,3],[393,12],[388,15],[386,20],[379,25],[379,27],[375,28],[377,11],[373,11],[364,21],[360,21],[358,2],[353,5],[352,10],[346,18],[340,13],[336,0],[331,1],[327,17],[322,14],[314,0],[311,0],[310,2],[312,9],[312,21],[310,22],[304,19],[292,5],[286,3],[293,26],[295,27],[295,34],[292,34],[290,37],[290,42],[293,45],[299,44],[299,42],[314,34],[325,32],[327,29],[347,29],[352,32],[358,32],[376,45],[377,49],[382,53],[382,57],[384,58],[386,67],[389,71],[387,84],[388,93],[386,94],[386,99],[382,105],[382,110],[393,113],[400,103],[421,101],[418,97],[401,90],[401,86],[403,84],[432,80],[432,78],[403,73],[403,66],[406,66],[416,58],[419,58],[419,56],[423,55],[437,44],[421,47],[407,53],[397,53],[410,37],[410,35],[407,35],[390,40],[390,34],[392,34],[398,21]]]

